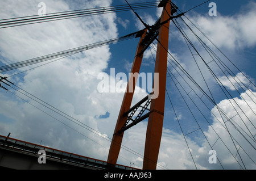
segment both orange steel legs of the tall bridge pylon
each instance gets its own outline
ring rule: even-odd
[[[160,148],[160,141],[162,137],[163,129],[163,118],[164,118],[164,102],[166,95],[166,73],[167,73],[167,56],[168,56],[168,39],[169,39],[169,26],[170,26],[170,16],[171,16],[171,0],[167,1],[163,8],[162,16],[160,19],[160,28],[158,35],[158,49],[156,52],[156,62],[155,62],[155,73],[159,76],[158,89],[153,87],[153,90],[158,90],[157,98],[151,99],[150,114],[148,118],[146,142],[144,149],[144,170],[155,170],[156,163],[158,161],[158,154]],[[163,24],[161,24],[163,23]],[[139,73],[141,68],[141,62],[143,58],[142,50],[144,45],[142,41],[146,36],[147,31],[144,30],[141,39],[139,40],[137,51],[135,54],[133,66],[131,68],[131,73]],[[133,79],[135,78],[135,79]],[[119,111],[117,124],[115,125],[115,130],[112,138],[112,143],[109,149],[108,163],[110,165],[115,165],[117,163],[119,151],[121,149],[123,132],[120,130],[126,123],[127,117],[124,115],[130,110],[131,102],[133,99],[134,89],[137,82],[137,77],[129,77],[129,82],[127,83],[126,92],[123,97],[123,102],[121,109]],[[133,89],[131,92],[130,90]],[[154,92],[156,93],[156,92]]]

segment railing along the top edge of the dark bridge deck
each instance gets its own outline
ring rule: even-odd
[[[31,142],[26,142],[22,140],[17,140],[15,138],[10,138],[0,135],[0,146],[15,149],[19,151],[24,151],[25,153],[38,154],[39,150],[46,151],[46,157],[57,159],[61,162],[75,163],[79,166],[89,167],[91,169],[119,169],[119,170],[138,170],[133,167],[123,166],[123,165],[109,165],[108,162],[101,161],[99,159],[89,158],[78,154],[68,153],[66,151],[61,151],[57,149],[48,148],[47,146],[32,144]]]

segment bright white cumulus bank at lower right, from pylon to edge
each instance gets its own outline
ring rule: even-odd
[[[250,95],[250,98],[246,96],[247,94]],[[234,104],[234,100],[228,99],[222,100],[212,109],[213,123],[204,131],[207,140],[199,144],[186,136],[191,152],[189,152],[182,134],[164,129],[158,169],[255,169],[255,140],[253,136],[256,119],[252,111],[256,109],[255,92],[251,93],[250,90],[247,90],[241,94],[242,96],[244,99],[234,98],[234,100],[245,111],[244,113],[240,110],[237,115],[237,110],[240,108]],[[220,114],[218,110],[222,110],[224,113]],[[222,119],[223,117],[232,119]],[[212,149],[216,151],[216,163],[209,162]]]

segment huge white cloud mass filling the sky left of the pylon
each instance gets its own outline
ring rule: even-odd
[[[76,3],[72,2],[72,5],[69,5],[69,2],[65,1],[44,2],[47,5],[47,12],[73,10],[69,6],[73,6]],[[104,5],[110,5],[110,3],[111,1],[104,1]],[[83,2],[82,4],[84,7],[98,6],[97,2]],[[32,1],[1,2],[1,6],[6,7],[1,11],[1,19],[10,16],[37,14],[37,5],[38,3]],[[100,5],[103,6],[102,4]],[[118,36],[117,27],[114,23],[115,18],[115,14],[86,16],[78,19],[2,29],[0,47],[1,55],[5,58],[2,61],[10,64],[59,52],[60,50],[112,39]],[[114,120],[112,115],[115,115],[117,111],[113,109],[113,106],[108,107],[108,103],[105,106],[100,106],[102,100],[98,99],[96,101],[93,99],[93,97],[100,96],[100,93],[97,92],[97,75],[108,67],[110,56],[111,53],[108,46],[100,47],[77,54],[73,58],[64,58],[38,69],[27,71],[24,77],[10,77],[9,80],[32,95],[81,121],[81,123],[99,130],[101,127],[98,128],[98,124],[101,123],[95,116],[97,117],[109,111],[111,119]],[[27,69],[26,67],[19,71]],[[15,73],[19,71],[15,71]],[[9,73],[9,75],[11,74],[13,73]],[[84,128],[49,111],[42,105],[26,98],[26,96],[18,92],[16,94],[64,124],[108,148],[108,141],[92,132],[85,131]],[[110,100],[113,96],[117,96],[113,100],[116,100],[117,103],[115,105],[118,105],[118,100],[122,96],[120,94],[108,95]],[[13,137],[35,143],[39,143],[38,141],[42,140],[42,144],[49,145],[52,148],[71,152],[76,151],[76,153],[82,155],[93,155],[96,153],[95,150],[102,150],[102,146],[95,144],[95,142],[81,136],[80,133],[59,123],[59,121],[47,116],[30,104],[11,96],[11,94],[1,95],[1,98],[5,102],[5,104],[1,104],[1,114],[14,120],[6,125],[1,124],[1,131],[11,132]],[[104,99],[104,96],[101,96],[101,98]],[[111,119],[109,118],[108,121]],[[112,124],[114,124],[114,121],[112,121]],[[111,136],[113,133],[111,128],[114,127],[112,124],[109,124],[109,129],[101,129],[101,131]],[[78,144],[79,142],[81,144]],[[68,144],[70,146],[67,146]],[[76,149],[74,150],[73,148]],[[104,154],[99,151],[95,157],[106,159],[108,150],[103,150],[105,151]]]

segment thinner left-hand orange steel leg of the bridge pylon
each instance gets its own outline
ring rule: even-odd
[[[141,36],[141,39],[139,40],[130,75],[138,75],[135,73],[139,73],[139,69],[141,68],[141,62],[142,62],[142,58],[143,58],[143,54],[141,54],[141,51],[144,47],[141,44],[141,42],[145,35],[146,35],[146,30],[144,31],[143,35]],[[122,138],[123,138],[123,132],[118,133],[118,131],[121,130],[123,125],[126,123],[127,117],[123,116],[123,113],[128,111],[131,107],[131,102],[133,100],[133,94],[134,94],[137,78],[138,78],[137,76],[129,77],[129,81],[127,83],[125,95],[123,96],[122,106],[119,111],[119,115],[118,115],[118,119],[117,119],[117,124],[115,125],[112,143],[111,143],[110,149],[109,149],[108,163],[110,165],[115,165],[117,163],[119,151],[121,149]]]

